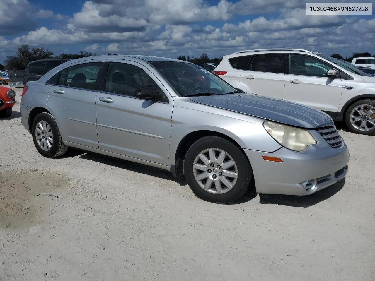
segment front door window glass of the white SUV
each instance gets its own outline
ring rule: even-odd
[[[328,64],[306,55],[290,54],[289,64],[289,73],[293,75],[326,77],[327,71],[332,69]]]

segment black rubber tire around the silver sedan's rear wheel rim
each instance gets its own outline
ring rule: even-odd
[[[48,151],[44,151],[42,148],[40,148],[36,139],[36,126],[40,121],[45,121],[51,127],[53,141],[51,148],[49,148]],[[31,134],[33,136],[34,145],[37,151],[39,151],[39,153],[46,158],[61,156],[68,150],[68,146],[63,143],[55,118],[48,112],[42,112],[36,115],[31,128]]]

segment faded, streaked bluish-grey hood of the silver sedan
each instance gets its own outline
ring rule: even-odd
[[[315,129],[332,124],[332,118],[323,111],[285,100],[254,94],[241,93],[199,96],[190,97],[190,100],[203,105],[214,106],[305,129]]]

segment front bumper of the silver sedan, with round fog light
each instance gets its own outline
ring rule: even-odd
[[[311,146],[294,152],[281,148],[275,152],[244,149],[254,173],[257,193],[309,195],[344,178],[350,154],[343,142],[340,148]],[[283,163],[266,161],[263,156],[280,158]]]

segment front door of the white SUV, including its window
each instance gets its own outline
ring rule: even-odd
[[[339,77],[327,76],[327,71],[332,66],[317,58],[300,54],[290,54],[289,64],[285,75],[285,100],[327,113],[338,112],[342,81]]]

